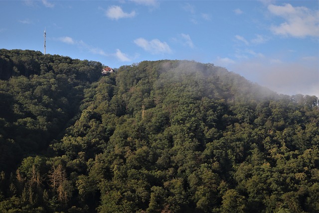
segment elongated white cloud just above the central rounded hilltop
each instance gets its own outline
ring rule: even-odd
[[[137,38],[134,40],[134,43],[152,54],[171,53],[168,44],[166,42],[161,42],[159,39],[148,41],[145,38]]]

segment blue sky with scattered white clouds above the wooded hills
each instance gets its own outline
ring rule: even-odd
[[[0,48],[112,68],[213,63],[279,94],[319,97],[318,0],[0,0]]]

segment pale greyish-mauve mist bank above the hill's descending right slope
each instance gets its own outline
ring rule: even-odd
[[[227,68],[279,94],[319,97],[319,61],[315,57],[290,63],[255,58],[228,64]]]

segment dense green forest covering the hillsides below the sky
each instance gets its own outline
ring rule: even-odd
[[[213,64],[0,49],[1,213],[318,213],[319,106]]]

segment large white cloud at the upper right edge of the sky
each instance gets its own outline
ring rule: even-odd
[[[289,3],[283,6],[268,5],[268,10],[285,19],[280,25],[270,27],[274,34],[290,35],[293,37],[319,36],[319,11],[304,6],[292,6]]]

